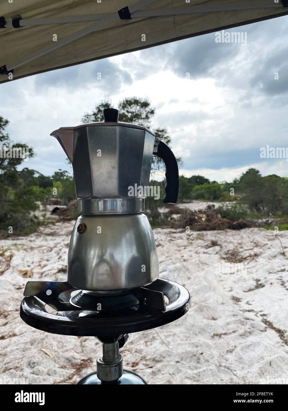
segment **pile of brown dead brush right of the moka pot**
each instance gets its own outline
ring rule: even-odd
[[[214,205],[208,205],[201,210],[189,210],[172,206],[167,210],[170,215],[176,215],[171,220],[171,226],[175,229],[186,229],[190,227],[192,231],[211,230],[241,230],[253,226],[252,222],[238,219],[236,221],[221,217],[219,210]]]

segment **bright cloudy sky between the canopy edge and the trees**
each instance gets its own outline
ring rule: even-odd
[[[288,147],[288,16],[228,31],[247,32],[247,44],[212,33],[2,84],[10,138],[36,152],[24,166],[68,170],[49,134],[103,99],[137,96],[156,109],[151,128],[168,129],[181,174],[231,181],[256,167],[288,177],[286,159],[260,158],[266,145]]]

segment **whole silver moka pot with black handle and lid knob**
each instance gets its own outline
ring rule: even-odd
[[[166,163],[165,198],[167,194],[169,198],[164,202],[176,202],[170,200],[178,186],[177,190],[173,184],[168,187],[167,177],[166,150],[168,155],[171,150],[149,129],[118,122],[118,115],[118,110],[106,109],[104,122],[61,127],[51,133],[72,164],[79,201],[81,216],[68,253],[68,282],[79,289],[119,291],[158,278],[154,236],[143,214],[153,154]],[[174,167],[169,180],[177,185],[178,168],[173,180],[175,173]]]

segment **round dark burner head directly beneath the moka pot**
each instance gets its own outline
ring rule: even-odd
[[[85,290],[72,292],[69,302],[77,308],[96,311],[131,308],[139,304],[131,293],[95,293]]]

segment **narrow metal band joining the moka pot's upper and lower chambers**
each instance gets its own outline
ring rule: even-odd
[[[145,199],[78,199],[79,212],[91,214],[134,214],[145,210]]]

